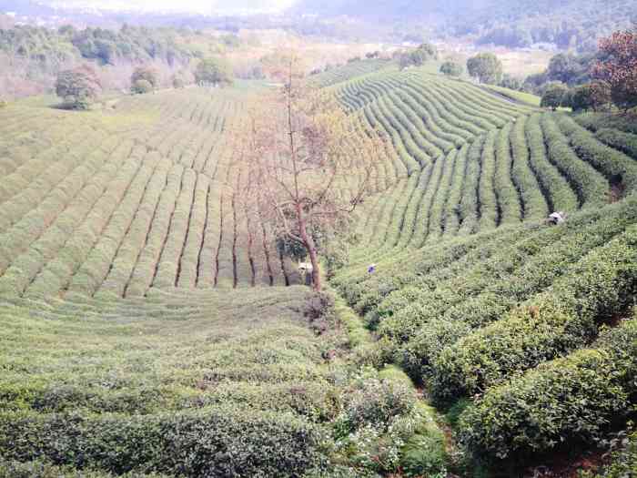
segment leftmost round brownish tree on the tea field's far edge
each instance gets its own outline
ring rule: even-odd
[[[100,91],[102,85],[90,66],[79,66],[57,75],[56,95],[71,109],[88,109]]]

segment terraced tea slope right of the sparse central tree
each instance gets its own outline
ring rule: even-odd
[[[330,87],[391,138],[379,171],[394,182],[360,212],[350,264],[332,283],[441,411],[464,410],[461,446],[510,476],[627,422],[634,125],[410,71]],[[549,226],[553,211],[567,222]]]

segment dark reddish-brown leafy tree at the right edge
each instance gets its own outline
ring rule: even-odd
[[[637,107],[637,32],[615,32],[600,41],[604,57],[593,67],[592,76],[606,83],[612,103],[628,111]]]

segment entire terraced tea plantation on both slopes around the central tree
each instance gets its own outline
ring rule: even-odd
[[[312,81],[387,139],[329,271],[376,341],[308,309],[245,207],[228,130],[258,86],[0,109],[0,472],[478,473],[392,363],[493,476],[625,428],[634,124],[382,61]]]

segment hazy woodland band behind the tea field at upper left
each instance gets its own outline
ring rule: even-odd
[[[152,63],[171,78],[193,60],[221,56],[240,45],[238,36],[213,36],[189,28],[0,28],[0,70],[6,72],[0,76],[0,97],[43,93],[60,71],[85,63],[98,67],[106,87],[128,88],[131,72],[141,64]]]

